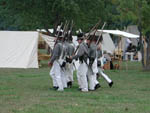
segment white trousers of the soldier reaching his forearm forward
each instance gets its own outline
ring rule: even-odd
[[[80,63],[77,70],[77,80],[79,88],[81,88],[81,91],[88,91],[88,82],[86,76],[87,71],[88,71],[87,64],[85,62]]]

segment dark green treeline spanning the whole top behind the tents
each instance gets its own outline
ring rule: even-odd
[[[149,11],[150,0],[0,0],[0,30],[53,28],[74,20],[74,29],[88,31],[101,19],[105,29],[136,24],[146,33]]]

